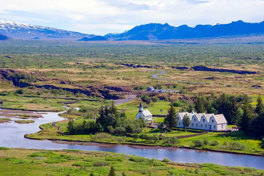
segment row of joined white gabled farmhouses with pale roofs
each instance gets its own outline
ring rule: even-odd
[[[184,116],[188,116],[191,121],[191,125],[188,128],[195,128],[195,129],[204,129],[204,130],[227,130],[227,120],[225,119],[223,114],[205,114],[200,113],[197,114],[192,110],[192,113],[188,112],[181,112],[177,113],[178,126],[177,127],[184,127],[182,124],[182,119]]]

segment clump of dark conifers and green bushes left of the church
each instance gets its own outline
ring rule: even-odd
[[[83,107],[79,111],[87,113],[87,110],[89,108]],[[67,129],[70,134],[107,132],[124,136],[126,133],[141,133],[143,127],[147,127],[143,119],[127,119],[126,113],[119,112],[115,104],[112,103],[99,108],[96,122],[83,121],[83,123],[75,123],[74,121],[69,121]]]

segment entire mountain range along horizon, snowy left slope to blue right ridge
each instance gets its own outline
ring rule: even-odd
[[[105,41],[105,40],[167,40],[188,39],[237,35],[264,35],[263,22],[232,23],[171,26],[169,24],[150,23],[135,26],[123,33],[109,33],[104,36],[89,35],[51,27],[36,26],[0,20],[0,34],[17,39],[75,39],[78,41]]]

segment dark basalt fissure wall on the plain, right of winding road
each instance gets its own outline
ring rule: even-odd
[[[257,74],[255,71],[246,71],[246,70],[231,70],[223,68],[210,68],[206,66],[194,66],[192,67],[195,71],[209,71],[209,72],[229,72],[229,73],[238,73],[238,74]]]

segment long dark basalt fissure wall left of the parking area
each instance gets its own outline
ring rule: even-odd
[[[24,82],[24,81],[20,81],[17,77],[15,76],[11,76],[9,73],[15,73],[15,71],[13,70],[0,70],[0,75],[2,75],[5,79],[7,79],[8,81],[12,81],[13,85],[17,86],[17,87],[28,87],[28,86],[32,86],[35,85],[33,83],[30,82]],[[63,83],[65,83],[64,81],[62,81]],[[126,87],[126,89],[123,87],[110,87],[110,86],[105,86],[104,89],[96,87],[96,86],[91,86],[91,87],[77,87],[76,89],[72,89],[72,88],[66,88],[66,87],[58,87],[58,86],[54,86],[54,85],[48,85],[48,84],[44,84],[44,85],[35,85],[36,88],[42,88],[44,87],[45,89],[62,89],[62,90],[66,90],[66,91],[70,91],[73,92],[74,94],[76,93],[83,93],[86,94],[87,96],[95,96],[95,97],[99,97],[99,98],[104,98],[107,100],[113,99],[113,100],[117,100],[117,99],[122,99],[124,98],[124,94],[119,94],[119,92],[123,92],[123,91],[128,91],[131,92],[131,90]],[[130,90],[130,91],[129,91]]]

